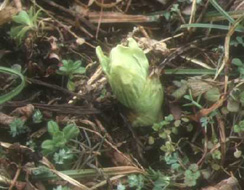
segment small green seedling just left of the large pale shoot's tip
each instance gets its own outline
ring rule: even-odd
[[[57,73],[59,75],[68,76],[67,88],[70,91],[74,91],[75,84],[72,81],[75,74],[84,74],[86,72],[86,68],[81,66],[81,61],[73,61],[73,60],[63,60],[63,66],[59,68]]]

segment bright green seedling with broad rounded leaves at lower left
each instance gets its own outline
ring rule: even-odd
[[[67,143],[77,137],[79,129],[75,124],[68,124],[61,131],[55,121],[48,122],[48,132],[52,136],[51,139],[45,140],[42,143],[44,155],[50,155],[59,149],[68,149]]]

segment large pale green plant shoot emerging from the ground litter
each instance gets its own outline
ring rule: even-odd
[[[147,126],[162,116],[163,86],[159,77],[149,76],[149,63],[136,41],[128,39],[128,47],[117,45],[109,57],[101,47],[96,54],[117,99],[132,113],[133,126]]]

